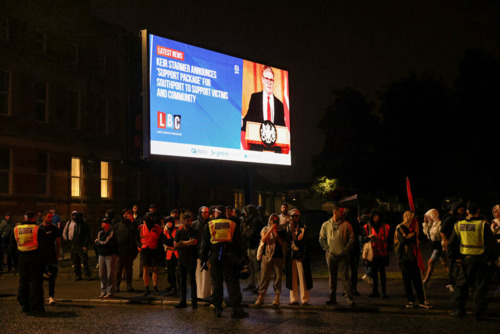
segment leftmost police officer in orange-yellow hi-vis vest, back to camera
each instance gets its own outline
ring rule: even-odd
[[[43,307],[43,265],[39,245],[43,244],[45,232],[36,225],[35,213],[25,213],[23,225],[14,227],[12,242],[17,243],[19,254],[19,289],[17,300],[21,304],[21,311],[44,312]]]

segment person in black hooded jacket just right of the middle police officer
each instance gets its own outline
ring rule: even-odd
[[[226,207],[227,208],[227,207]],[[244,215],[244,229],[242,231],[243,241],[247,249],[248,259],[250,260],[250,281],[247,287],[242,291],[257,291],[258,279],[260,277],[260,263],[257,260],[258,244],[260,243],[260,231],[262,224],[257,217],[257,209],[254,205],[250,204],[243,208]],[[257,282],[255,284],[255,276]]]

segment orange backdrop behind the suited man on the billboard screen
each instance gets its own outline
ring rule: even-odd
[[[243,89],[241,98],[241,115],[245,117],[248,103],[253,93],[260,92],[262,87],[262,69],[264,65],[243,60]],[[290,130],[290,112],[288,99],[288,72],[271,67],[274,72],[274,88],[272,94],[283,103],[284,122]]]

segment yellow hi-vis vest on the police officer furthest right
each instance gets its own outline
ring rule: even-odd
[[[455,224],[455,233],[460,241],[460,253],[480,255],[484,252],[484,220],[460,220]]]

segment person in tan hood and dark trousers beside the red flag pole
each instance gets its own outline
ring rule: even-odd
[[[425,301],[423,293],[422,278],[420,276],[416,253],[417,236],[418,222],[415,218],[415,213],[405,211],[403,222],[396,226],[394,233],[394,253],[399,262],[399,269],[401,269],[403,277],[404,293],[407,299],[406,308],[413,308],[415,304],[413,288],[415,289],[419,305],[424,308],[431,308],[432,306]]]

